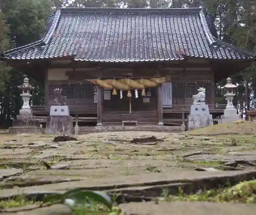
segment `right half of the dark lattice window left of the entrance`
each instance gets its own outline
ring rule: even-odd
[[[91,99],[94,98],[94,85],[91,83],[75,84],[76,99]]]

